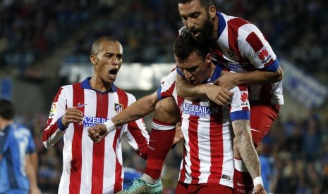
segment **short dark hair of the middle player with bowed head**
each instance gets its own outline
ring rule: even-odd
[[[207,42],[198,43],[190,32],[183,32],[174,42],[174,55],[180,60],[186,60],[193,52],[205,59],[209,49]]]

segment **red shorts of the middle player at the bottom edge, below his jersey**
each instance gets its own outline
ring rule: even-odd
[[[211,194],[211,193],[224,193],[232,194],[233,188],[229,186],[223,186],[215,183],[201,183],[201,184],[187,184],[178,182],[176,185],[176,193],[200,193],[200,194]]]

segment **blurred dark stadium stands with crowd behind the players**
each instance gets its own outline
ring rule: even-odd
[[[328,1],[216,0],[265,34],[284,70],[285,104],[264,152],[274,158],[274,193],[328,193]],[[176,0],[1,0],[0,97],[18,109],[17,122],[34,134],[43,193],[56,193],[61,176],[59,144],[46,150],[42,129],[52,98],[63,84],[92,75],[92,42],[113,36],[123,44],[116,82],[136,98],[152,93],[174,67]],[[136,73],[138,72],[138,73]],[[145,117],[150,129],[152,115]],[[142,171],[145,161],[123,143],[124,166]],[[181,145],[169,153],[164,193],[174,193]]]

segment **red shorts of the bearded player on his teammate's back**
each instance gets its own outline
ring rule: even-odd
[[[256,147],[277,119],[279,109],[280,105],[252,105],[250,103],[250,129]]]

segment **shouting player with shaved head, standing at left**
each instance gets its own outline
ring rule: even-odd
[[[149,136],[142,119],[119,127],[100,143],[94,143],[87,136],[89,127],[106,122],[135,101],[133,95],[114,84],[122,60],[120,42],[100,37],[92,45],[92,77],[61,86],[54,97],[42,140],[49,149],[63,138],[59,193],[117,193],[122,190],[123,134],[138,155],[147,157]]]

